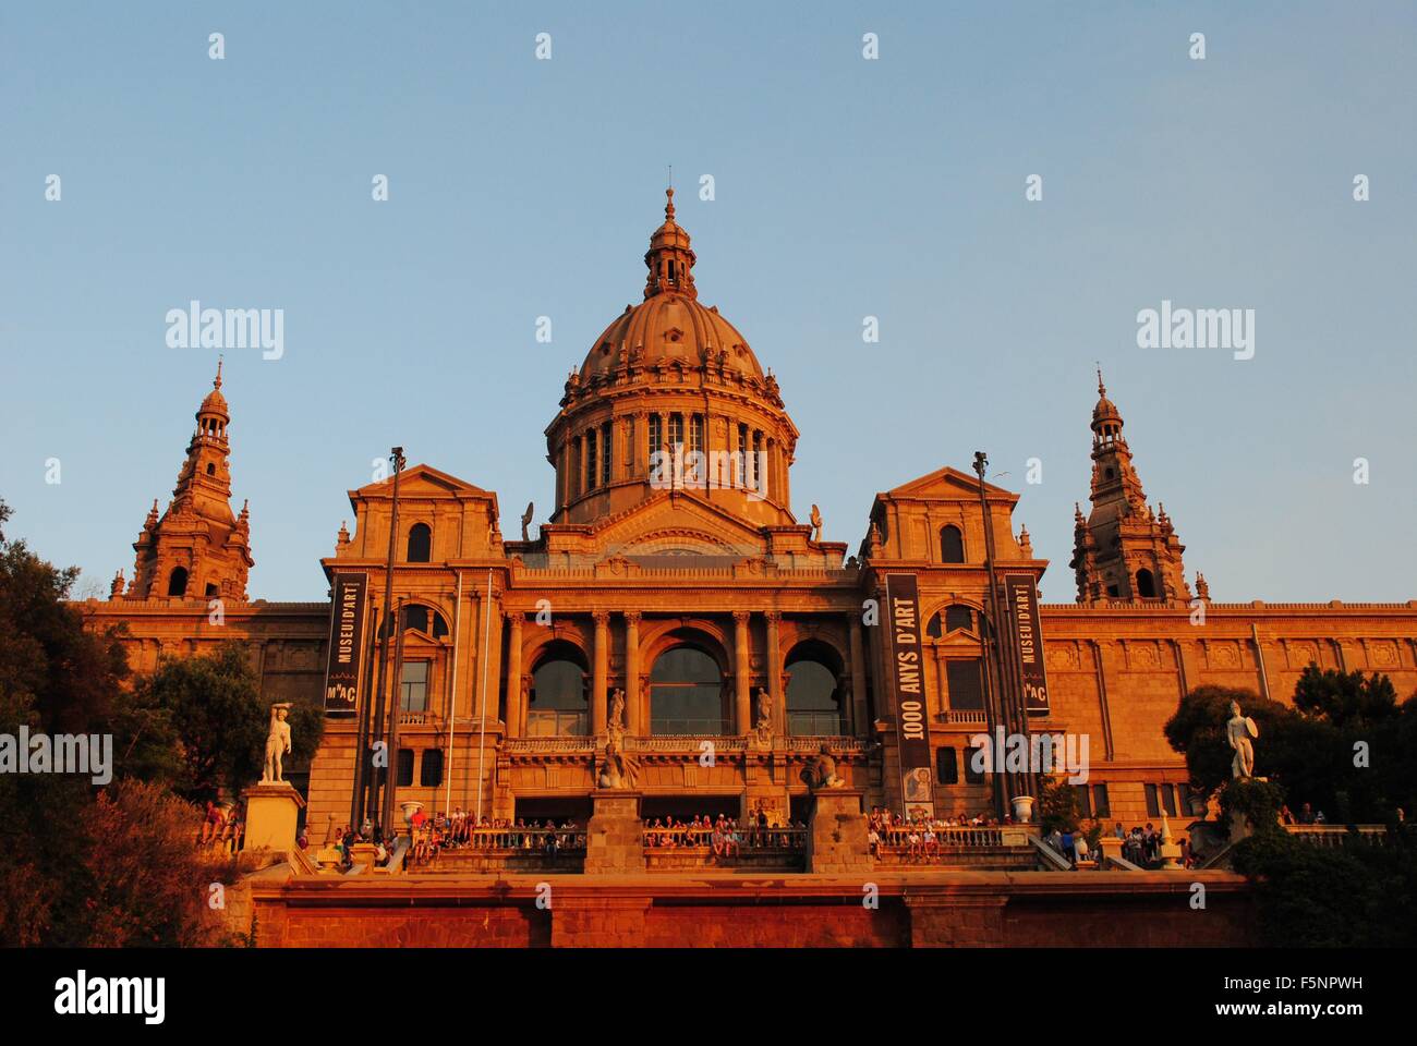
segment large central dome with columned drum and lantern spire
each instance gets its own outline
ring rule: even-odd
[[[760,526],[794,523],[788,466],[798,431],[747,339],[699,302],[694,261],[670,189],[645,252],[645,300],[595,339],[547,427],[553,522],[589,523],[655,497],[665,489],[656,468],[673,455],[669,489],[699,490]],[[682,455],[700,461],[686,465]]]

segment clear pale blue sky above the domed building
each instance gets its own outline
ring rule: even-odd
[[[639,300],[672,163],[701,299],[778,374],[794,509],[829,539],[983,448],[1070,601],[1101,360],[1213,598],[1413,598],[1414,11],[7,4],[9,533],[105,592],[132,571],[215,366],[164,343],[193,298],[285,310],[282,360],[227,353],[254,597],[324,597],[344,492],[395,442],[496,490],[509,536],[529,500],[546,519],[543,429]],[[1255,309],[1254,359],[1138,349],[1162,299]]]

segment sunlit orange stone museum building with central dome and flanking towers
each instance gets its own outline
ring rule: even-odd
[[[869,609],[884,601],[886,574],[905,571],[925,625],[937,809],[986,809],[989,788],[966,758],[986,726],[986,532],[998,571],[1039,578],[1049,567],[1027,532],[1015,533],[1019,496],[989,483],[981,495],[973,475],[941,468],[879,493],[852,556],[818,522],[798,523],[788,493],[798,432],[781,390],[737,329],[700,305],[693,262],[670,203],[646,254],[643,302],[591,346],[547,427],[554,496],[537,533],[529,512],[520,537],[504,537],[490,490],[431,465],[401,472],[393,598],[408,608],[398,744],[411,782],[398,798],[584,823],[623,690],[623,750],[646,816],[761,808],[805,819],[801,770],[823,741],[867,806],[900,809],[887,643]],[[245,592],[248,513],[230,507],[220,373],[197,420],[173,506],[162,519],[154,506],[143,527],[132,584],[79,608],[94,628],[128,625],[140,672],[238,639],[266,700],[319,700],[329,602]],[[1285,700],[1316,663],[1417,690],[1417,600],[1219,604],[1199,580],[1193,595],[1121,424],[1101,390],[1093,512],[1076,520],[1078,601],[1041,608],[1050,710],[1034,727],[1087,737],[1085,799],[1131,825],[1185,814],[1185,761],[1162,726],[1196,686]],[[393,480],[349,497],[354,530],[340,527],[323,567],[368,575],[373,622]],[[1261,772],[1263,758],[1261,748]],[[349,819],[354,763],[356,723],[332,719],[309,780],[293,768],[316,832]],[[499,920],[509,938],[540,933]]]

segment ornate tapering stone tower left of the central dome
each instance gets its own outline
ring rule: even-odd
[[[211,391],[197,408],[197,428],[187,444],[187,459],[177,486],[159,517],[157,502],[147,512],[133,543],[133,580],[113,598],[215,600],[245,602],[251,558],[251,516],[231,510],[231,415],[221,394],[221,364]]]

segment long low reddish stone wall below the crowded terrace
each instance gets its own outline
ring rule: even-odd
[[[1244,947],[1229,873],[921,873],[670,882],[305,876],[254,887],[262,947]],[[1192,907],[1192,883],[1206,907]],[[538,906],[538,899],[541,906]]]

